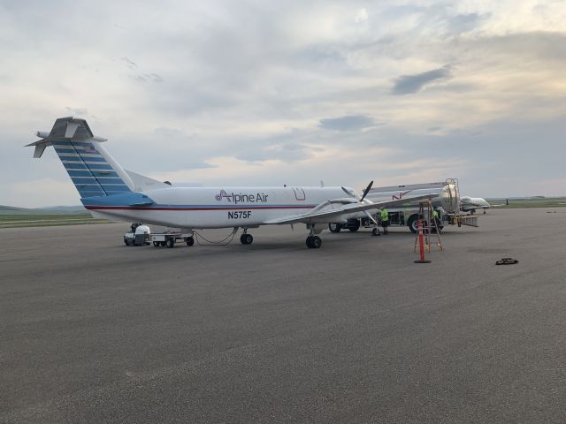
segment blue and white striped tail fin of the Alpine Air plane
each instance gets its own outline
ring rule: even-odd
[[[42,140],[27,145],[34,146],[34,157],[53,146],[81,198],[135,190],[132,178],[101,145],[106,139],[96,137],[85,119],[60,117],[50,133],[36,135]]]

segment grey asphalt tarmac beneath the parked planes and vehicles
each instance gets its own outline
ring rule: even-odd
[[[0,230],[0,422],[566,422],[566,208],[480,224],[429,264],[402,229]]]

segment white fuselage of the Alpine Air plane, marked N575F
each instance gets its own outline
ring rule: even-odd
[[[85,208],[112,219],[186,229],[256,227],[345,197],[341,187],[170,187],[140,194],[154,204],[106,205],[102,198],[99,201],[88,199]],[[343,201],[351,202],[348,198]],[[319,222],[327,221],[323,218]],[[317,222],[316,218],[312,222]]]

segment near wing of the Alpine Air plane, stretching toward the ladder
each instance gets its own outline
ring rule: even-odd
[[[332,223],[334,218],[342,215],[355,214],[371,209],[389,208],[393,206],[402,206],[408,202],[427,201],[436,197],[434,194],[424,194],[422,196],[407,197],[394,201],[377,201],[375,203],[348,203],[340,208],[332,210],[317,211],[315,213],[307,212],[306,214],[286,216],[284,218],[270,219],[264,221],[264,225],[279,223]]]

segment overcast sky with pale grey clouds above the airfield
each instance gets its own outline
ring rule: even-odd
[[[80,204],[65,116],[160,180],[566,195],[565,70],[562,0],[0,0],[0,204]]]

